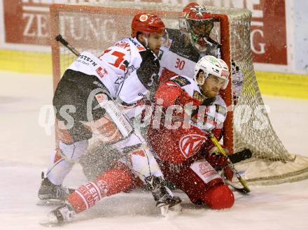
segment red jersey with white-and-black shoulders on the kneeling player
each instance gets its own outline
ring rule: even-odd
[[[155,101],[163,107],[164,115],[160,127],[151,126],[148,129],[148,139],[159,159],[173,164],[193,162],[196,159],[204,158],[200,155],[200,148],[213,147],[211,140],[202,129],[211,129],[216,138],[221,135],[227,110],[221,96],[216,96],[216,100],[211,106],[204,106],[200,110],[200,113],[204,112],[202,120],[184,121],[186,106],[189,103],[193,106],[200,106],[203,100],[204,96],[195,80],[186,76],[175,76],[162,82],[158,87]],[[174,105],[180,106],[182,109],[170,109],[172,108],[170,106]],[[172,113],[169,113],[170,111]],[[170,120],[173,122],[169,123]],[[200,121],[202,122],[200,123]]]

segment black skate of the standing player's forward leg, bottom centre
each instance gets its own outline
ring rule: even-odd
[[[167,190],[165,180],[162,177],[154,175],[147,177],[146,186],[151,190],[154,200],[156,201],[156,207],[160,208],[163,216],[167,214],[168,208],[178,206],[176,209],[181,209],[181,198],[179,196],[174,196],[170,190]]]

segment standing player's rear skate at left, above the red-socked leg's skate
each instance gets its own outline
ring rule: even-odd
[[[38,190],[38,198],[41,199],[38,205],[52,205],[63,203],[69,194],[73,193],[74,189],[63,187],[62,185],[54,185],[42,173],[41,187]]]

